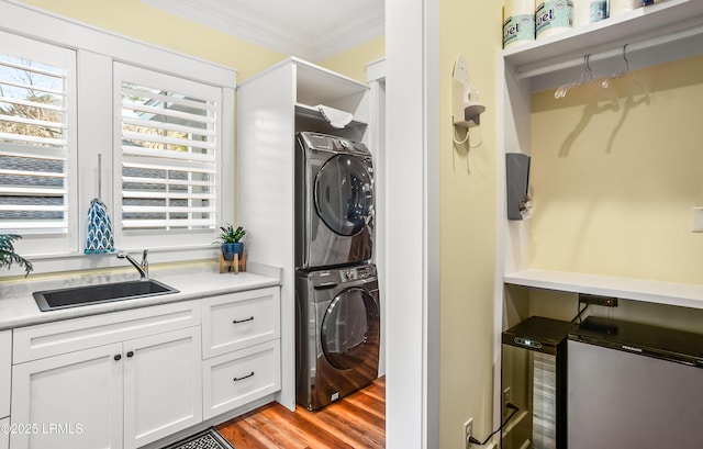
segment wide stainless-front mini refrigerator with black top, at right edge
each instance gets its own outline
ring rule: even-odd
[[[703,335],[589,316],[568,349],[569,449],[703,447]]]

